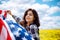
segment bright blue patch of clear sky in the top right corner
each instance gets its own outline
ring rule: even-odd
[[[57,5],[57,2],[59,2],[60,0],[36,0],[37,3],[40,4],[47,4],[49,6],[59,6]]]

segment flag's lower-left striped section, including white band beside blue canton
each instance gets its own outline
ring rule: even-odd
[[[0,18],[0,40],[15,40],[7,23]]]

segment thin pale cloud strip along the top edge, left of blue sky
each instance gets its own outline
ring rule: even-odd
[[[7,2],[12,2],[12,3],[17,3],[17,4],[31,4],[34,3],[35,0],[0,0],[2,4],[7,3]]]

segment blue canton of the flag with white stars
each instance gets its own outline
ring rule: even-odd
[[[6,22],[16,40],[34,40],[21,25],[13,22],[12,20],[6,20]]]

